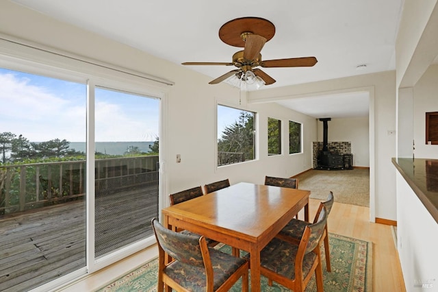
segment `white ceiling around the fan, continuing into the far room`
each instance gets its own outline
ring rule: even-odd
[[[274,23],[276,33],[261,51],[263,60],[318,59],[313,67],[263,69],[276,80],[266,86],[273,88],[394,70],[394,47],[404,0],[12,1],[176,64],[231,62],[240,48],[222,42],[219,28],[244,16],[268,19]],[[366,69],[359,71],[356,67],[361,64]],[[211,80],[233,69],[187,68]],[[368,97],[363,93],[307,97],[279,104],[314,117],[368,114]]]

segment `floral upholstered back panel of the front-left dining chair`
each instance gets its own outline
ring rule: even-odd
[[[199,239],[201,236],[181,234],[164,228],[157,219],[152,221],[153,230],[160,247],[179,262],[196,267],[204,267]]]

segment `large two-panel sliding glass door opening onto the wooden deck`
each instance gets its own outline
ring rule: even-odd
[[[52,77],[0,68],[0,291],[114,263],[151,241],[159,217],[162,100],[29,71]],[[144,90],[125,80],[105,82]]]

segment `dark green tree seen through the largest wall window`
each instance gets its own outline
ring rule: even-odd
[[[218,141],[218,151],[242,152],[245,160],[254,159],[254,116],[240,112],[239,120],[224,128]]]

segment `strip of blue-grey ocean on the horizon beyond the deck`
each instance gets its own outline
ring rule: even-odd
[[[150,152],[149,145],[153,145],[153,141],[150,142],[96,142],[96,151],[109,155],[123,155],[127,151],[129,146],[138,147],[142,152]],[[70,142],[70,149],[76,151],[85,152],[85,142]]]

